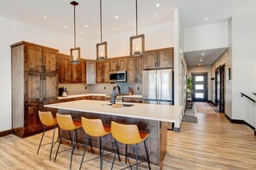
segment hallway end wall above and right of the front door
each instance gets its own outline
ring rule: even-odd
[[[188,67],[188,75],[191,76],[191,73],[208,73],[208,100],[211,100],[211,65]]]

